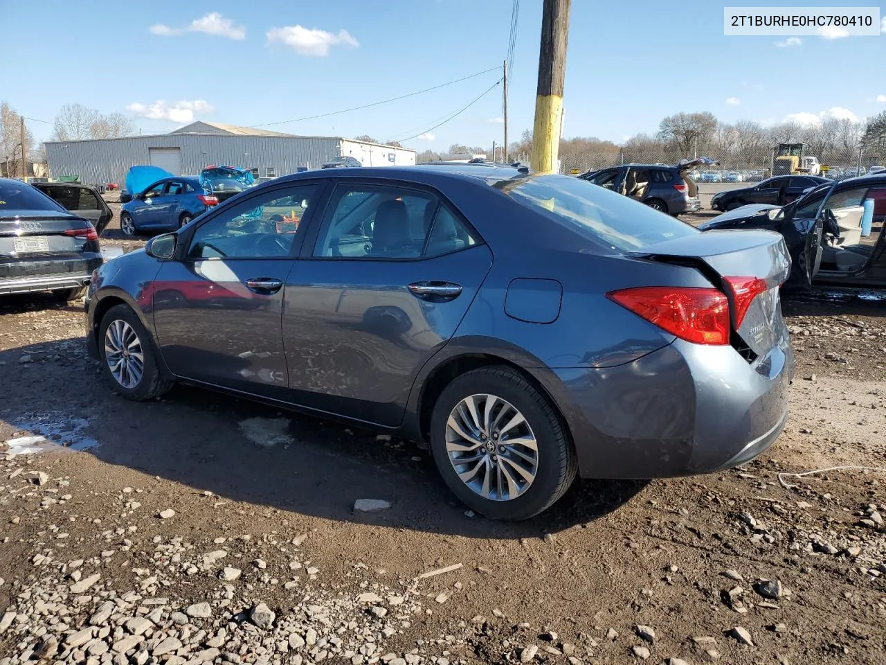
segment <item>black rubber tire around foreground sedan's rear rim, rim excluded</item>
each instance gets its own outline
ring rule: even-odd
[[[481,497],[459,478],[447,454],[449,414],[470,395],[500,397],[520,411],[538,445],[538,470],[532,484],[515,498],[496,501]],[[570,488],[578,460],[568,432],[548,399],[521,374],[494,365],[465,372],[439,396],[431,414],[431,452],[443,481],[462,503],[493,520],[527,520],[548,509]]]

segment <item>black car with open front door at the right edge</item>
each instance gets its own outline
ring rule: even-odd
[[[768,229],[788,245],[791,281],[809,286],[886,286],[886,174],[825,181],[787,206],[734,209],[701,231]]]

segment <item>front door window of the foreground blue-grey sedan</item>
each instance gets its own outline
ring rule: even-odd
[[[188,256],[206,258],[274,258],[289,256],[301,220],[317,187],[305,184],[265,192],[219,212],[201,224],[190,241]]]

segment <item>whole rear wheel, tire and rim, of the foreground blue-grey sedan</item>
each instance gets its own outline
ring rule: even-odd
[[[431,451],[465,505],[494,520],[526,520],[575,480],[569,434],[548,399],[509,367],[452,381],[431,415]]]

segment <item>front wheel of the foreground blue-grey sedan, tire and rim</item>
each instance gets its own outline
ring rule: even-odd
[[[98,348],[105,378],[127,399],[142,402],[172,387],[160,373],[150,333],[128,305],[108,309],[98,327]]]

